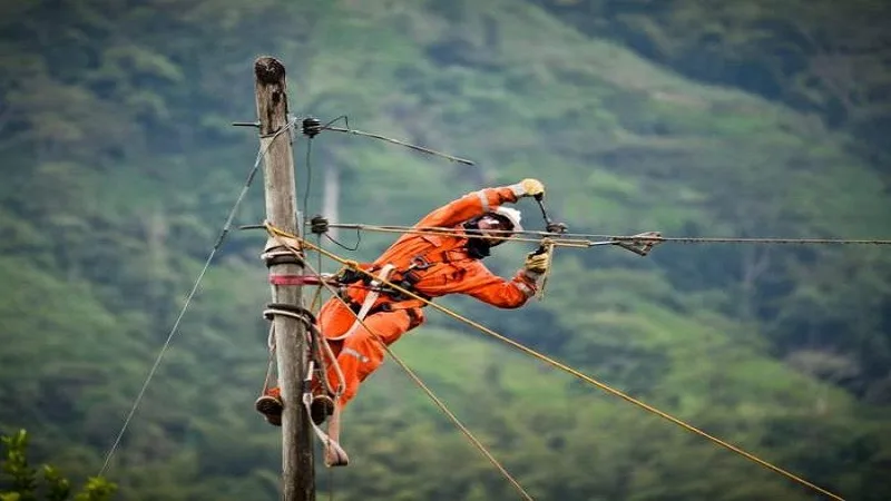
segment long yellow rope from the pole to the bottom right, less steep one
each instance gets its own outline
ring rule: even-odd
[[[341,263],[342,265],[349,266],[353,271],[360,272],[360,273],[362,273],[362,274],[364,274],[366,276],[370,276],[370,277],[372,277],[374,279],[378,279],[381,283],[385,284],[388,287],[393,287],[395,291],[398,291],[398,292],[400,292],[402,294],[405,294],[405,295],[408,295],[408,296],[410,296],[410,297],[412,297],[414,299],[418,299],[418,301],[424,303],[425,305],[431,306],[431,307],[433,307],[433,308],[447,314],[448,316],[451,316],[454,320],[463,322],[463,323],[466,323],[466,324],[468,324],[468,325],[470,325],[470,326],[472,326],[472,327],[474,327],[474,328],[477,328],[477,330],[479,330],[479,331],[481,331],[481,332],[483,332],[483,333],[486,333],[486,334],[488,334],[488,335],[490,335],[490,336],[492,336],[492,337],[495,337],[495,338],[497,338],[497,340],[499,340],[499,341],[501,341],[503,343],[507,343],[507,344],[511,345],[512,347],[515,347],[515,348],[517,348],[517,350],[519,350],[519,351],[521,351],[521,352],[523,352],[523,353],[526,353],[526,354],[528,354],[528,355],[530,355],[530,356],[532,356],[535,358],[538,358],[538,360],[540,360],[542,362],[546,362],[546,363],[548,363],[548,364],[550,364],[550,365],[552,365],[552,366],[555,366],[555,367],[557,367],[557,369],[559,369],[559,370],[561,370],[561,371],[564,371],[566,373],[569,373],[569,374],[578,377],[579,380],[582,380],[582,381],[585,381],[585,382],[587,382],[587,383],[589,383],[589,384],[591,384],[594,386],[597,386],[598,389],[600,389],[600,390],[603,390],[603,391],[605,391],[605,392],[607,392],[607,393],[609,393],[609,394],[611,394],[614,396],[618,396],[619,399],[625,400],[626,402],[631,403],[631,404],[634,404],[634,405],[636,405],[636,406],[638,406],[638,407],[640,407],[640,409],[643,409],[643,410],[645,410],[645,411],[647,411],[649,413],[658,415],[659,418],[663,418],[663,419],[665,419],[665,420],[667,420],[667,421],[669,421],[669,422],[672,422],[672,423],[674,423],[674,424],[676,424],[676,425],[678,425],[678,426],[681,426],[681,428],[683,428],[683,429],[685,429],[685,430],[687,430],[687,431],[689,431],[692,433],[695,433],[695,434],[697,434],[697,435],[699,435],[699,436],[702,436],[704,439],[707,439],[711,442],[713,442],[713,443],[715,443],[717,445],[721,445],[724,449],[727,449],[727,450],[730,450],[730,451],[732,451],[732,452],[734,452],[736,454],[742,455],[743,458],[745,458],[745,459],[747,459],[747,460],[750,460],[752,462],[755,462],[755,463],[757,463],[757,464],[760,464],[760,465],[762,465],[762,466],[764,466],[764,468],[766,468],[768,470],[772,470],[775,473],[779,473],[779,474],[781,474],[781,475],[783,475],[783,477],[785,477],[785,478],[787,478],[787,479],[790,479],[790,480],[792,480],[794,482],[797,482],[797,483],[800,483],[802,485],[805,485],[805,487],[807,487],[810,489],[813,489],[814,491],[820,492],[820,493],[822,493],[824,495],[828,495],[828,497],[830,497],[830,498],[832,498],[832,499],[834,499],[836,501],[844,501],[844,499],[841,498],[840,495],[834,494],[834,493],[832,493],[832,492],[830,492],[830,491],[828,491],[828,490],[825,490],[825,489],[823,489],[823,488],[821,488],[821,487],[819,487],[819,485],[816,485],[814,483],[811,483],[807,480],[804,480],[803,478],[801,478],[799,475],[795,475],[794,473],[791,473],[791,472],[789,472],[789,471],[786,471],[786,470],[784,470],[784,469],[782,469],[780,466],[776,466],[776,465],[774,465],[774,464],[772,464],[772,463],[770,463],[770,462],[767,462],[767,461],[765,461],[765,460],[763,460],[763,459],[761,459],[761,458],[758,458],[758,456],[756,456],[756,455],[754,455],[754,454],[752,454],[750,452],[746,452],[746,451],[744,451],[743,449],[740,449],[736,445],[733,445],[733,444],[731,444],[728,442],[725,442],[725,441],[723,441],[723,440],[721,440],[721,439],[718,439],[718,438],[716,438],[714,435],[711,435],[711,434],[699,430],[698,428],[693,426],[692,424],[688,424],[688,423],[686,423],[686,422],[684,422],[684,421],[682,421],[682,420],[679,420],[679,419],[677,419],[677,418],[675,418],[675,416],[673,416],[673,415],[670,415],[670,414],[668,414],[668,413],[666,413],[664,411],[660,411],[660,410],[658,410],[658,409],[656,409],[656,407],[654,407],[654,406],[652,406],[652,405],[649,405],[647,403],[644,403],[644,402],[642,402],[642,401],[639,401],[639,400],[637,400],[637,399],[635,399],[635,397],[633,397],[633,396],[630,396],[630,395],[628,395],[628,394],[626,394],[626,393],[624,393],[624,392],[621,392],[619,390],[616,390],[616,389],[609,386],[606,383],[601,383],[601,382],[595,380],[594,377],[588,376],[588,375],[586,375],[586,374],[584,374],[584,373],[581,373],[581,372],[579,372],[579,371],[577,371],[577,370],[575,370],[575,369],[572,369],[572,367],[570,367],[570,366],[568,366],[568,365],[566,365],[564,363],[561,363],[561,362],[558,362],[558,361],[556,361],[556,360],[554,360],[554,358],[551,358],[551,357],[549,357],[547,355],[538,353],[535,350],[532,350],[532,348],[530,348],[528,346],[525,346],[525,345],[522,345],[522,344],[520,344],[520,343],[518,343],[518,342],[516,342],[516,341],[513,341],[511,338],[508,338],[508,337],[506,337],[506,336],[492,331],[491,328],[486,327],[484,325],[482,325],[482,324],[480,324],[478,322],[474,322],[474,321],[472,321],[470,318],[467,318],[467,317],[464,317],[464,316],[462,316],[462,315],[460,315],[460,314],[458,314],[458,313],[456,313],[456,312],[453,312],[453,311],[451,311],[451,310],[449,310],[449,308],[447,308],[444,306],[440,306],[440,305],[438,305],[438,304],[435,304],[435,303],[433,303],[431,301],[428,301],[427,298],[423,298],[423,297],[419,296],[418,294],[415,294],[415,293],[413,293],[411,291],[408,291],[404,287],[401,287],[398,284],[394,284],[394,283],[392,283],[392,282],[390,282],[388,279],[380,278],[380,277],[378,277],[378,276],[375,276],[375,275],[362,269],[356,262],[351,262],[351,261],[344,259],[344,258],[342,258],[342,257],[340,257],[340,256],[337,256],[337,255],[335,255],[335,254],[333,254],[331,252],[327,252],[325,249],[319,248],[319,247],[314,246],[312,243],[309,243],[309,242],[306,242],[306,240],[304,240],[302,238],[298,238],[298,237],[295,237],[294,235],[288,234],[287,232],[284,232],[282,229],[278,229],[278,228],[274,227],[268,222],[265,223],[265,227],[266,227],[266,230],[274,238],[276,238],[278,242],[291,240],[291,242],[296,244],[296,245],[293,245],[293,244],[285,243],[284,245],[286,245],[286,246],[297,247],[297,246],[301,246],[301,245],[305,245],[309,248],[311,248],[313,250],[316,250],[316,252],[320,252],[320,253],[324,254],[326,257]]]

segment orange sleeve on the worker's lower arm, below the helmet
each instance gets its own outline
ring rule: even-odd
[[[464,279],[453,292],[499,308],[518,308],[536,294],[536,281],[522,269],[511,279],[495,275],[479,261],[472,262],[464,271]]]

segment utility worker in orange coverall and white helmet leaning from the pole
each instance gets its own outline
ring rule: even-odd
[[[538,179],[472,191],[428,214],[413,227],[452,232],[407,233],[376,261],[361,267],[428,299],[466,294],[500,308],[520,307],[536,294],[538,279],[550,264],[549,254],[529,254],[523,267],[510,279],[492,274],[481,259],[491,247],[503,243],[505,237],[522,230],[520,212],[502,204],[544,193],[545,186]],[[331,297],[317,318],[345,379],[346,387],[337,401],[341,409],[355,396],[360,383],[383,363],[385,352],[381,342],[389,346],[424,322],[421,301],[392,287],[388,291],[372,284],[364,274],[352,274],[355,276],[349,276],[350,273],[341,276],[341,298]],[[355,314],[361,315],[363,306],[364,325],[374,334],[356,322]],[[339,377],[332,365],[329,363],[327,377],[331,387],[336,387]],[[315,386],[319,390],[321,385],[316,382]],[[313,400],[311,415],[316,424],[334,410],[331,399],[324,402],[325,399],[316,395]],[[261,396],[256,409],[270,423],[281,425],[283,403],[278,389]]]

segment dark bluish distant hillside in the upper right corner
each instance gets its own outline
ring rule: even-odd
[[[537,0],[591,37],[617,40],[691,78],[742,88],[849,134],[885,174],[891,8],[810,2]]]

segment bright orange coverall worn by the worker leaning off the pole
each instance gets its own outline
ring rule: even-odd
[[[440,207],[424,216],[414,228],[424,227],[460,227],[459,225],[492,210],[499,205],[517,202],[509,187],[484,188]],[[402,273],[412,264],[412,258],[421,257],[430,264],[427,269],[414,269],[420,281],[412,292],[429,297],[446,294],[467,294],[484,303],[501,308],[522,306],[536,293],[536,282],[522,269],[511,279],[492,274],[477,258],[470,257],[464,249],[468,239],[464,236],[435,234],[405,234],[390,246],[374,263],[363,265],[364,269],[374,273],[390,263],[394,272],[391,282],[398,282]],[[376,273],[375,273],[376,275]],[[359,310],[369,293],[368,286],[358,282],[347,286],[346,296]],[[383,304],[385,310],[381,311]],[[394,301],[386,294],[380,294],[372,310],[364,318],[365,325],[388,346],[396,342],[402,334],[421,325],[424,315],[423,305],[414,298]],[[319,313],[320,331],[329,340],[342,336],[355,322],[355,316],[336,297],[330,298]],[[341,395],[341,406],[356,394],[359,385],[382,363],[384,348],[375,336],[361,325],[349,337],[329,341],[343,372],[346,387]],[[332,387],[337,386],[337,376],[333,366],[329,367],[329,381]]]

